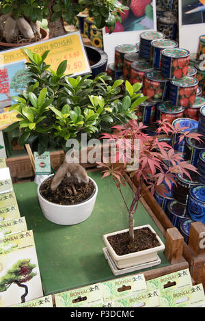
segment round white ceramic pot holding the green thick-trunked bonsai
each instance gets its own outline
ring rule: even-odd
[[[49,175],[51,177],[53,175]],[[46,179],[49,179],[46,177]],[[46,180],[44,179],[44,181]],[[38,201],[40,203],[40,207],[42,212],[47,220],[55,224],[60,225],[73,225],[79,224],[84,220],[87,220],[89,216],[92,214],[92,210],[94,209],[94,204],[96,202],[96,196],[98,194],[98,186],[96,182],[90,177],[90,180],[94,183],[95,191],[94,194],[87,201],[79,203],[77,205],[58,205],[55,203],[51,203],[42,197],[40,194],[40,185],[38,185]]]

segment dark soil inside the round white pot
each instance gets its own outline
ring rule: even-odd
[[[90,198],[95,192],[94,183],[90,180],[87,184],[78,183],[77,180],[68,180],[64,177],[57,190],[51,190],[51,182],[53,177],[46,179],[40,186],[40,194],[47,201],[59,205],[76,205],[83,203]]]

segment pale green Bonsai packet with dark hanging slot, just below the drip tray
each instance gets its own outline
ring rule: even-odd
[[[147,285],[143,274],[135,274],[102,283],[104,302],[113,301],[124,296],[137,295],[145,291],[147,291]]]

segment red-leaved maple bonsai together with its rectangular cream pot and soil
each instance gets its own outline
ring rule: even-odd
[[[126,83],[126,88],[128,91],[132,91],[128,83]],[[181,129],[179,131],[178,128],[173,127],[165,120],[159,121],[158,125],[158,133],[178,133],[180,140],[184,137]],[[171,188],[178,172],[190,177],[189,172],[196,171],[196,168],[189,162],[185,162],[179,153],[175,153],[172,146],[160,141],[159,136],[148,136],[143,133],[143,129],[146,129],[143,123],[130,120],[128,125],[114,126],[114,133],[102,135],[102,138],[115,142],[114,146],[116,146],[113,159],[109,158],[100,163],[104,168],[102,178],[109,175],[113,177],[128,214],[128,229],[103,235],[107,251],[119,269],[154,261],[157,252],[162,251],[165,247],[150,225],[135,227],[134,214],[137,211],[143,184],[152,194],[154,194],[156,187],[165,194],[166,188],[163,183]],[[197,133],[187,132],[186,135],[194,136],[200,140],[200,135]],[[129,148],[126,149],[126,146]],[[137,154],[135,154],[136,151]],[[135,180],[137,180],[136,190],[134,188]],[[133,188],[131,205],[127,204],[122,194],[122,185],[126,185],[126,183],[130,183]]]

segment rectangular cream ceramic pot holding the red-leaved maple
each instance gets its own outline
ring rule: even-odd
[[[153,233],[156,233],[154,229],[149,224],[142,225],[140,227],[135,227],[134,229],[142,229],[143,227],[148,227]],[[152,261],[155,261],[157,259],[157,253],[159,251],[163,251],[165,249],[165,245],[161,241],[160,237],[156,234],[156,238],[159,241],[160,245],[156,246],[154,248],[150,248],[148,250],[143,250],[135,253],[130,253],[126,255],[117,255],[115,251],[113,250],[111,244],[107,240],[107,237],[111,235],[116,235],[120,233],[128,232],[128,229],[124,229],[122,231],[113,232],[109,234],[102,235],[102,239],[105,242],[105,245],[107,247],[107,251],[109,252],[109,255],[113,259],[115,265],[118,269],[122,268],[130,268],[131,266],[137,266],[139,264],[145,264]]]

